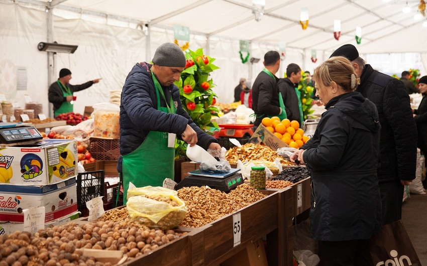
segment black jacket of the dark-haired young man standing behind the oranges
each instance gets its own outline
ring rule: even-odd
[[[286,115],[289,120],[296,120],[301,124],[299,115],[298,96],[296,96],[295,86],[288,78],[281,78],[277,83],[279,91],[282,93],[283,103],[285,104]]]

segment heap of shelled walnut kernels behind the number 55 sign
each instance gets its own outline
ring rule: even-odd
[[[178,190],[178,197],[187,207],[187,215],[180,226],[200,227],[266,196],[243,184],[229,194],[207,187],[184,187]]]

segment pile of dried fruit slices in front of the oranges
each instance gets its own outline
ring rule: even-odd
[[[282,165],[293,165],[290,161],[283,159],[277,152],[271,150],[268,146],[247,143],[242,147],[233,147],[226,153],[226,159],[230,164],[237,164],[237,160],[265,160],[273,162],[276,158]]]

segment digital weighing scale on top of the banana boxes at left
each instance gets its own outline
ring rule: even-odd
[[[43,139],[42,135],[34,126],[0,123],[0,144],[2,145],[37,142],[41,139]]]

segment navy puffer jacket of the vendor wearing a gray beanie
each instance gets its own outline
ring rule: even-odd
[[[168,102],[172,95],[177,108],[176,114],[157,110],[156,88],[151,78],[151,66],[145,62],[137,63],[126,77],[120,104],[120,154],[126,155],[135,151],[152,130],[175,133],[176,137],[182,140],[181,134],[187,124],[196,131],[198,146],[206,150],[211,143],[218,143],[191,120],[182,107],[176,85],[171,84],[163,88]],[[160,96],[160,105],[166,107],[162,96]],[[122,172],[121,158],[117,169]]]

